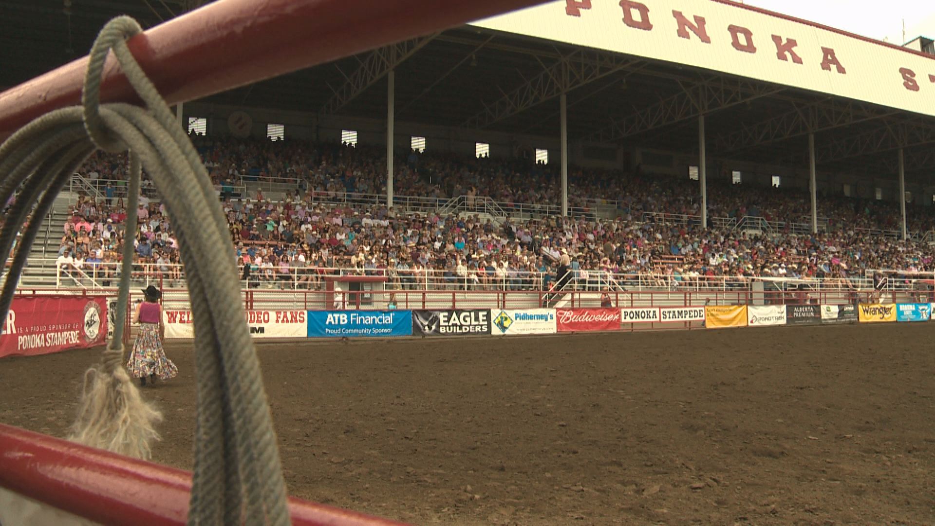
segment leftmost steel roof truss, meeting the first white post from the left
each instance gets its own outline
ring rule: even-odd
[[[361,65],[357,70],[338,88],[338,93],[324,103],[319,113],[321,115],[331,115],[338,112],[354,97],[367,91],[367,88],[372,86],[374,82],[381,80],[387,73],[405,62],[416,51],[423,49],[426,44],[438,37],[438,35],[436,33],[428,37],[412,38],[411,40],[370,51],[367,57],[361,60]]]

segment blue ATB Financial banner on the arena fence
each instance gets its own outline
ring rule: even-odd
[[[412,335],[412,311],[309,311],[309,338]]]

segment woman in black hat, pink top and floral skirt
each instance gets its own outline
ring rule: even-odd
[[[156,376],[159,376],[160,380],[168,380],[179,373],[172,360],[165,358],[163,350],[159,330],[159,321],[162,318],[159,299],[162,295],[158,288],[148,286],[143,290],[145,300],[137,305],[137,312],[133,316],[133,321],[139,324],[139,334],[126,368],[131,376],[139,378],[140,387],[146,386],[147,376],[151,383],[155,383]]]

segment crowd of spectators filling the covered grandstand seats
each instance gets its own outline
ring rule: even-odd
[[[616,217],[495,223],[477,215],[439,216],[370,204],[333,204],[331,197],[385,192],[385,161],[366,148],[289,141],[197,138],[196,146],[223,201],[243,277],[252,283],[321,287],[332,269],[385,274],[399,287],[427,280],[451,286],[547,288],[563,256],[585,281],[650,276],[660,285],[732,277],[849,278],[872,269],[935,270],[928,244],[872,236],[861,227],[897,228],[891,203],[823,197],[827,232],[746,235],[739,230],[643,221],[645,212],[698,214],[695,182],[674,177],[574,169],[570,202],[616,202]],[[103,153],[82,169],[103,197],[83,197],[65,224],[59,267],[116,275],[125,210],[125,161]],[[490,158],[412,153],[396,167],[396,195],[444,199],[488,196],[502,202],[554,204],[557,177],[544,165]],[[262,192],[239,195],[251,180],[292,181],[282,201]],[[714,183],[710,217],[762,216],[805,223],[807,194]],[[151,188],[151,185],[149,186]],[[180,279],[178,242],[165,209],[144,191],[135,226],[139,270]],[[332,204],[328,204],[331,202]],[[917,207],[916,207],[917,208]],[[913,210],[916,225],[931,218]],[[287,285],[288,284],[288,285]]]

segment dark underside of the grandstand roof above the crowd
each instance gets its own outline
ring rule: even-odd
[[[8,0],[0,32],[0,49],[7,55],[0,85],[16,85],[78,58],[116,15],[128,14],[151,27],[192,4],[82,0],[65,14],[58,1]],[[566,91],[569,141],[695,152],[701,107],[707,108],[708,152],[715,158],[783,164],[804,173],[811,129],[819,169],[893,178],[900,144],[906,147],[907,180],[929,183],[928,172],[935,168],[929,148],[935,142],[935,117],[475,25],[205,100],[381,118],[390,65],[396,70],[396,120],[402,122],[557,136],[558,94]]]

